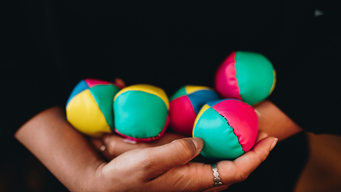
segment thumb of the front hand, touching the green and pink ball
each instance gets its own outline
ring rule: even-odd
[[[204,146],[202,138],[182,138],[159,147],[146,148],[151,158],[149,173],[151,178],[158,177],[169,169],[186,164],[197,156]]]

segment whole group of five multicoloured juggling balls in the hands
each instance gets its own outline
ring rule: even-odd
[[[170,98],[148,84],[120,89],[104,80],[81,80],[66,103],[66,117],[89,136],[115,132],[136,142],[160,138],[169,125],[201,137],[204,157],[235,159],[255,144],[258,117],[252,106],[275,84],[276,71],[265,56],[233,51],[217,69],[215,89],[185,85]]]

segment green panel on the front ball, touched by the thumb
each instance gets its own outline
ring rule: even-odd
[[[206,158],[234,159],[244,153],[233,128],[212,108],[199,117],[193,135],[204,139],[201,154]]]

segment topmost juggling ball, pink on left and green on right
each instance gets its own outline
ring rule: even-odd
[[[249,105],[266,99],[275,88],[276,71],[262,54],[233,51],[217,69],[214,86],[223,98]]]

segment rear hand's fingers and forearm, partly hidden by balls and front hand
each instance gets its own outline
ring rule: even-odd
[[[265,100],[261,104],[254,107],[257,111],[259,120],[258,140],[267,136],[276,137],[279,141],[293,136],[302,131],[293,120],[282,112],[275,104]],[[93,145],[100,151],[101,146],[105,145],[106,149],[102,151],[103,156],[112,160],[125,151],[161,146],[174,141],[175,139],[184,138],[184,135],[176,133],[165,133],[160,139],[149,143],[131,144],[125,142],[123,137],[113,134],[106,134],[102,138],[91,139]]]

